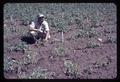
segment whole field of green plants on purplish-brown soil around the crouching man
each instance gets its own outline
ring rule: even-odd
[[[113,3],[5,4],[4,77],[116,78],[116,11]],[[50,28],[51,38],[44,46],[40,41],[27,44],[21,40],[38,13],[45,15]]]

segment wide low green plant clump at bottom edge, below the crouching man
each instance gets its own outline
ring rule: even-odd
[[[30,74],[21,72],[17,75],[18,79],[54,79],[56,73],[43,69],[41,67],[35,68]]]

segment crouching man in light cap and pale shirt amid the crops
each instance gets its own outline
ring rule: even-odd
[[[49,26],[43,14],[38,14],[37,21],[30,23],[30,34],[36,39],[41,38],[47,41],[50,38]]]

